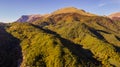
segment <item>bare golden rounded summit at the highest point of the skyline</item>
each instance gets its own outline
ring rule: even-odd
[[[78,9],[78,8],[75,8],[75,7],[61,8],[61,9],[56,10],[52,14],[61,14],[61,13],[78,13],[78,14],[81,14],[81,15],[95,16],[95,14],[88,13],[85,10]]]

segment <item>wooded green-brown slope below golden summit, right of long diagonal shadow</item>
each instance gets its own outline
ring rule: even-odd
[[[35,23],[41,25],[44,22],[49,24],[45,28],[92,51],[103,66],[120,66],[120,28],[114,21],[105,17],[63,13]]]

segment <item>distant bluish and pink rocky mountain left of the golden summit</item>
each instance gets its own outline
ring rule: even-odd
[[[23,15],[21,16],[21,18],[19,18],[16,22],[34,22],[38,19],[41,18],[41,15],[37,14],[37,15]]]

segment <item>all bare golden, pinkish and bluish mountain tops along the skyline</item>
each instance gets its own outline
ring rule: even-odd
[[[16,22],[29,22],[29,23],[31,23],[31,22],[37,21],[38,19],[41,19],[45,16],[50,16],[50,15],[53,15],[53,14],[61,14],[61,13],[78,13],[78,14],[87,15],[87,16],[97,16],[95,14],[91,14],[89,12],[86,12],[85,10],[82,10],[82,9],[77,9],[77,8],[74,8],[74,7],[68,7],[68,8],[59,9],[59,10],[54,11],[53,13],[47,14],[47,15],[40,15],[40,14],[23,15]],[[111,18],[112,20],[120,20],[120,12],[108,15],[108,17]]]

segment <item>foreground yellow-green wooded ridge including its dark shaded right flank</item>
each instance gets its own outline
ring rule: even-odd
[[[64,39],[52,31],[27,23],[13,23],[7,31],[20,40],[22,67],[80,67],[100,66],[100,62],[80,45]]]

